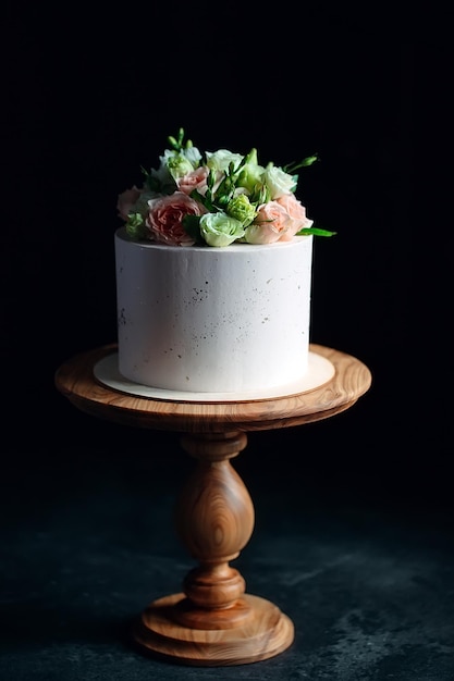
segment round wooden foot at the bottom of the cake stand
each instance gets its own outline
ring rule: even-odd
[[[185,626],[192,610],[182,593],[155,600],[135,623],[136,643],[146,652],[176,663],[217,667],[268,659],[294,640],[292,620],[258,596],[246,594],[232,608],[207,612],[207,627],[216,629],[200,628],[200,611],[193,618],[198,620],[198,628]]]

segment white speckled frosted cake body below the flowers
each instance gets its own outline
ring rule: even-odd
[[[273,389],[307,371],[312,235],[175,247],[115,232],[118,361],[137,384]]]

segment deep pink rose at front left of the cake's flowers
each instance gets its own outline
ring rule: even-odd
[[[192,246],[195,242],[183,227],[185,215],[201,215],[204,206],[194,201],[184,191],[174,191],[148,201],[147,226],[155,240],[169,246]]]

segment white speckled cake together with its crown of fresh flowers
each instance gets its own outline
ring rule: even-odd
[[[308,370],[314,227],[295,170],[169,137],[119,195],[118,370],[194,394],[271,393]]]

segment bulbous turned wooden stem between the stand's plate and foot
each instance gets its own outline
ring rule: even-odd
[[[210,629],[229,623],[229,614],[242,598],[245,581],[229,566],[249,541],[254,506],[230,459],[247,445],[245,433],[200,434],[182,437],[183,448],[198,459],[175,508],[175,527],[199,567],[184,580],[184,592],[194,606],[185,622]],[[221,614],[217,610],[223,610]],[[244,612],[243,612],[244,614]]]

